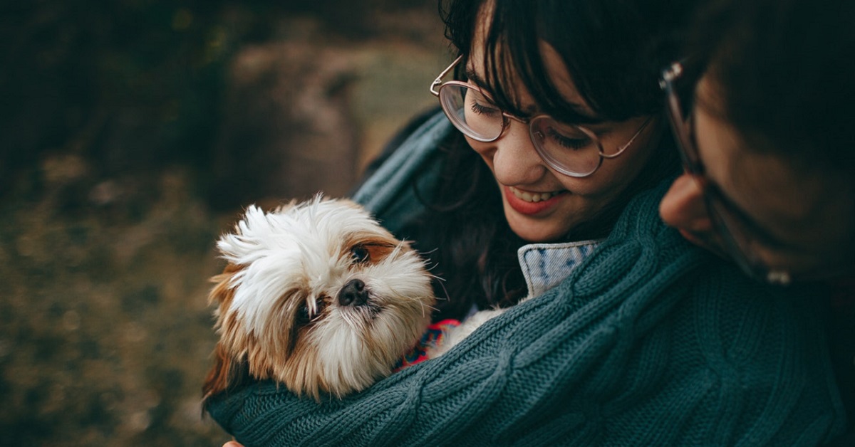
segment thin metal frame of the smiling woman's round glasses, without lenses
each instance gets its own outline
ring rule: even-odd
[[[435,96],[435,97],[437,97],[437,99],[439,99],[439,105],[442,108],[442,111],[445,114],[445,116],[449,119],[449,121],[451,121],[451,124],[454,125],[458,131],[463,133],[463,135],[465,135],[469,138],[472,138],[475,141],[479,141],[481,143],[492,143],[493,141],[497,141],[498,138],[502,138],[502,135],[504,135],[504,130],[508,126],[510,126],[509,120],[517,121],[519,123],[527,125],[528,126],[528,138],[531,139],[532,145],[534,145],[534,150],[537,151],[538,156],[540,156],[540,159],[543,160],[543,162],[545,162],[546,165],[548,165],[550,168],[555,169],[557,172],[559,172],[563,175],[566,175],[568,177],[573,177],[575,179],[584,179],[586,177],[590,177],[591,175],[593,175],[594,173],[596,173],[598,171],[600,166],[603,165],[603,159],[613,159],[613,158],[617,158],[618,156],[622,156],[622,154],[629,148],[629,146],[631,146],[634,143],[635,138],[638,138],[638,136],[641,134],[641,132],[643,132],[645,130],[647,125],[650,124],[650,122],[653,119],[653,115],[648,116],[647,119],[638,128],[638,130],[635,131],[632,138],[629,138],[629,141],[626,144],[623,144],[622,146],[618,147],[617,151],[614,154],[606,154],[604,152],[603,144],[599,141],[599,138],[597,137],[597,134],[595,132],[593,132],[592,130],[590,130],[584,126],[577,126],[575,124],[569,124],[569,126],[574,126],[576,129],[580,130],[582,133],[585,133],[585,135],[588,138],[591,138],[591,140],[593,141],[593,144],[597,145],[597,152],[599,155],[599,161],[597,163],[597,166],[595,168],[593,168],[593,170],[590,173],[587,173],[587,174],[574,173],[573,171],[570,171],[569,168],[566,168],[566,167],[562,166],[561,164],[558,164],[558,162],[555,160],[555,157],[552,156],[551,154],[549,154],[545,149],[543,149],[541,147],[542,144],[539,144],[537,142],[537,139],[535,138],[535,134],[537,134],[539,138],[544,138],[544,136],[543,136],[542,132],[536,131],[534,129],[533,123],[538,121],[538,120],[545,119],[545,118],[549,118],[552,121],[557,121],[554,118],[552,118],[550,115],[546,115],[546,114],[534,115],[528,119],[520,118],[520,117],[515,116],[515,115],[510,115],[509,113],[505,112],[502,108],[498,107],[498,105],[496,105],[496,103],[494,101],[492,101],[492,97],[490,97],[490,95],[488,95],[485,91],[483,91],[481,89],[481,87],[479,87],[477,85],[471,85],[468,82],[463,82],[460,80],[450,80],[450,81],[443,82],[442,79],[445,78],[445,75],[447,75],[449,72],[451,72],[451,70],[453,68],[455,68],[457,66],[457,64],[460,63],[461,60],[463,60],[463,55],[457,56],[457,59],[455,59],[454,62],[451,62],[451,65],[449,65],[447,68],[445,68],[445,70],[443,70],[441,73],[439,73],[439,76],[437,76],[436,79],[433,79],[433,82],[431,83],[430,89],[429,89],[430,92],[433,94],[433,96]],[[455,125],[455,121],[451,118],[451,116],[449,116],[448,110],[445,110],[445,103],[443,103],[439,97],[439,91],[445,85],[460,85],[460,86],[466,87],[468,89],[478,91],[481,95],[483,95],[484,97],[489,99],[490,102],[492,103],[492,105],[495,106],[496,109],[498,109],[502,113],[502,130],[500,130],[498,132],[498,135],[496,135],[495,138],[477,137],[475,135],[470,134],[469,132],[466,132],[465,130],[461,129],[457,125]],[[564,123],[564,124],[566,125],[567,123]]]

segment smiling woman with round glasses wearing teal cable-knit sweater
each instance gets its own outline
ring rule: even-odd
[[[215,420],[248,445],[817,444],[840,432],[821,315],[796,299],[808,291],[735,274],[657,216],[676,174],[655,84],[679,37],[665,30],[685,18],[672,7],[451,3],[461,57],[432,85],[448,116],[428,118],[355,198],[435,249],[445,316],[534,299],[367,391],[319,405],[253,384],[213,397]],[[443,78],[452,70],[458,83]]]

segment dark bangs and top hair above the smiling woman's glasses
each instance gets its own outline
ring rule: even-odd
[[[441,14],[445,35],[464,55],[484,0],[451,0]],[[656,79],[680,50],[681,28],[694,2],[675,0],[494,0],[486,40],[487,89],[503,109],[524,116],[507,87],[518,76],[542,111],[585,122],[562,101],[544,68],[539,44],[562,56],[581,97],[599,118],[624,121],[657,113]]]

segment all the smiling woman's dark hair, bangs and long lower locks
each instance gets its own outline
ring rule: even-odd
[[[482,6],[490,0],[440,1],[445,35],[463,55],[457,77],[472,49]],[[561,100],[540,57],[541,41],[557,50],[577,90],[604,121],[625,121],[661,112],[657,77],[676,56],[680,24],[688,3],[669,0],[492,0],[486,41],[486,88],[509,113],[525,116],[516,100],[522,85],[540,111],[566,122],[584,123]],[[512,80],[518,79],[518,80]],[[428,211],[408,229],[416,248],[435,266],[440,317],[461,318],[473,304],[479,309],[516,303],[527,292],[516,250],[525,244],[504,218],[501,197],[486,163],[459,132],[443,144],[445,171]],[[637,191],[656,185],[679,169],[671,138],[650,157],[616,203],[572,229],[572,240],[608,235]],[[446,295],[447,294],[447,295]]]

